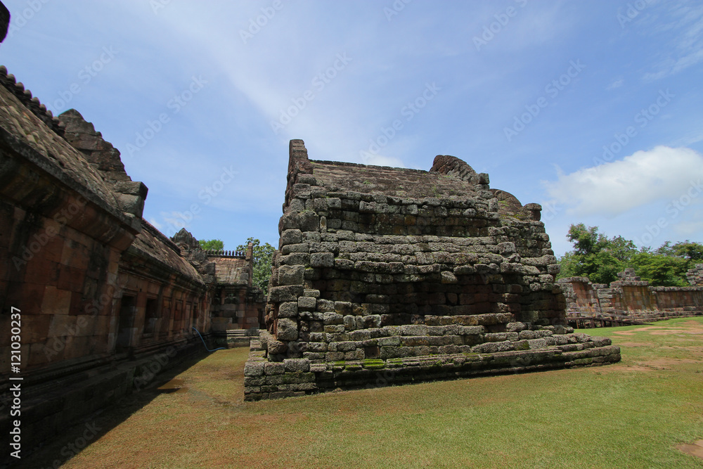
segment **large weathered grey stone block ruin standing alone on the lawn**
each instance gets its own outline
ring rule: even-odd
[[[245,399],[620,360],[574,334],[540,220],[462,160],[309,160],[290,141],[266,331]]]

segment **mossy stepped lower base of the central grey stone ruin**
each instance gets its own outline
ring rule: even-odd
[[[570,327],[510,322],[504,324],[505,332],[487,332],[496,316],[467,316],[476,324],[472,326],[366,329],[366,340],[331,342],[328,351],[309,355],[316,358],[278,362],[268,358],[276,340],[262,331],[260,340],[252,339],[245,365],[245,400],[620,361],[620,349],[610,339],[573,333]],[[378,357],[364,359],[370,348],[378,349]]]

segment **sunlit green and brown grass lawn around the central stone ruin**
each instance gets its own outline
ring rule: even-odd
[[[96,416],[61,467],[703,468],[677,449],[703,439],[703,318],[594,335],[623,360],[246,403],[247,350],[222,350]],[[84,428],[23,467],[64,461]]]

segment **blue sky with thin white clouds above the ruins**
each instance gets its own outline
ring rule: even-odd
[[[288,141],[455,155],[570,224],[703,242],[701,1],[4,0],[0,63],[75,108],[171,235],[278,245]]]

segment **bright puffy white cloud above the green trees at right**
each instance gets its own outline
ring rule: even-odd
[[[571,214],[617,215],[654,200],[679,198],[701,179],[703,155],[690,148],[657,146],[542,184],[550,198],[571,206]]]

